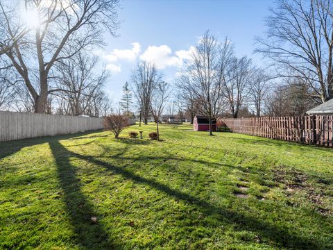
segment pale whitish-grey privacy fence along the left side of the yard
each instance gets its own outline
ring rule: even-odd
[[[103,128],[102,117],[0,111],[0,142]]]

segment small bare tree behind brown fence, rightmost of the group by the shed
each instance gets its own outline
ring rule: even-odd
[[[248,97],[255,106],[255,114],[260,117],[262,113],[263,100],[268,92],[268,82],[271,80],[264,69],[254,68],[250,76],[250,90]]]

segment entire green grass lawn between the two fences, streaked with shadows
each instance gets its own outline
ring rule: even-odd
[[[0,143],[0,249],[333,249],[332,149],[141,129]]]

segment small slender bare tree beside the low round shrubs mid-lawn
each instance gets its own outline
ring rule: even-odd
[[[154,91],[153,98],[151,100],[151,114],[156,122],[157,140],[160,140],[160,131],[158,130],[158,124],[160,123],[160,117],[162,116],[165,103],[169,98],[171,91],[168,83],[161,81],[158,83],[157,88]]]

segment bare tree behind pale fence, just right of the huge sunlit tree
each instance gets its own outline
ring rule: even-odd
[[[103,85],[108,80],[105,70],[96,72],[98,58],[89,57],[79,51],[66,63],[59,63],[60,72],[56,87],[56,95],[65,100],[63,105],[69,106],[68,115],[99,115],[100,96]],[[97,103],[96,103],[97,102]]]

